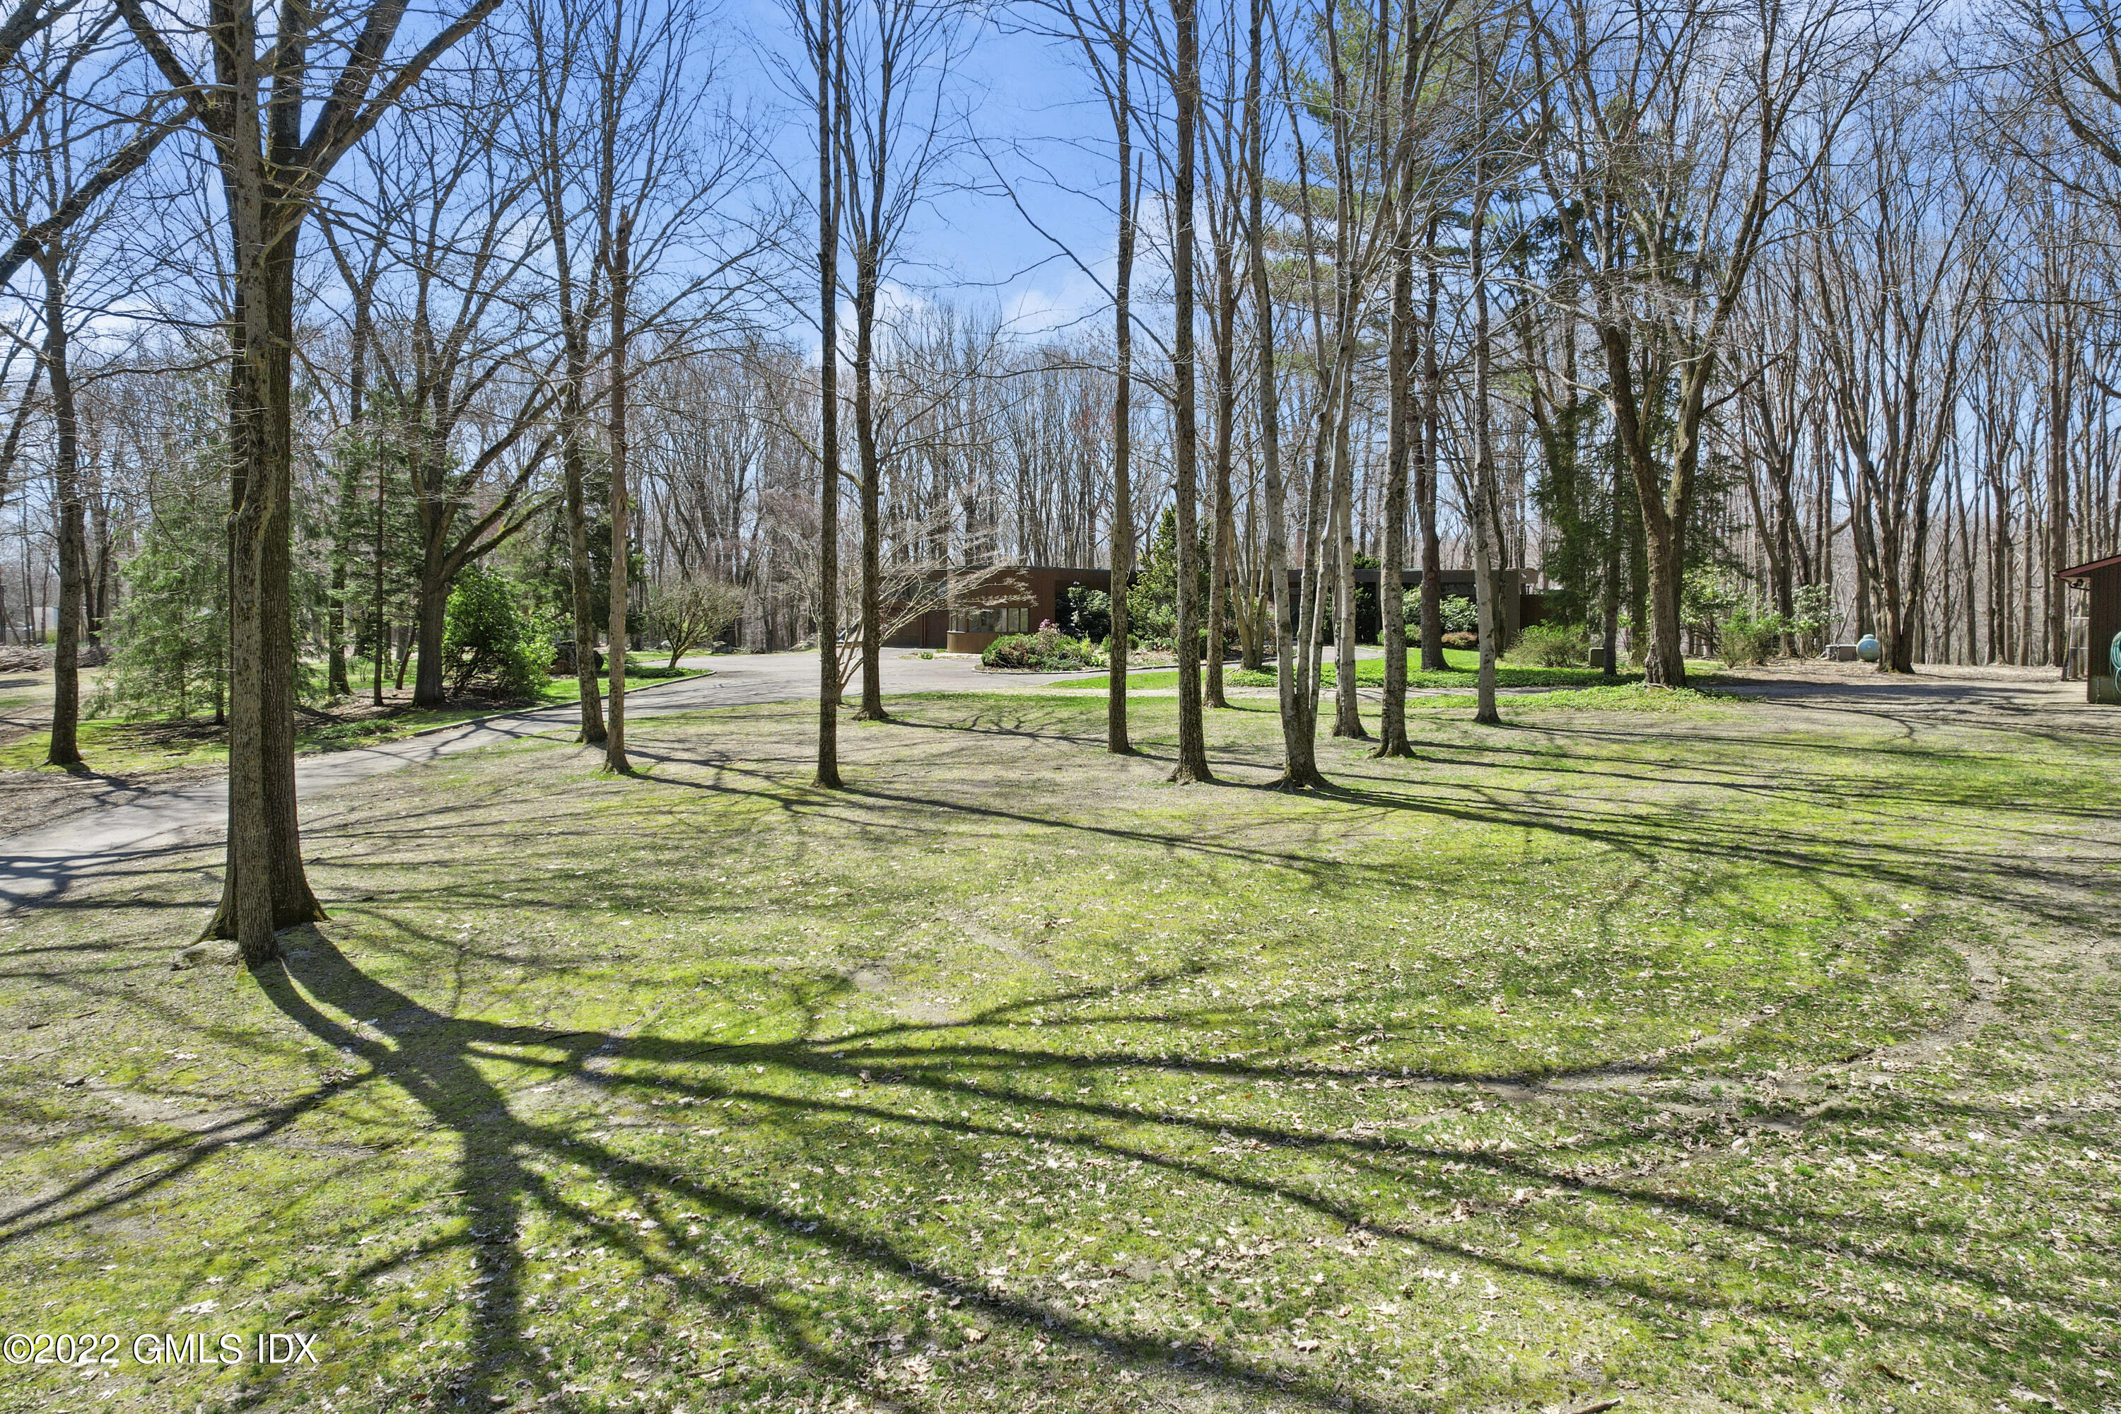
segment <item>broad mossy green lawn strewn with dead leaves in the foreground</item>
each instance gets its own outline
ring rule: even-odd
[[[1080,695],[558,738],[0,920],[8,1410],[2098,1408],[2110,736],[1417,717],[1169,786]],[[1268,712],[1211,719],[1273,770]],[[208,871],[208,873],[201,873]]]

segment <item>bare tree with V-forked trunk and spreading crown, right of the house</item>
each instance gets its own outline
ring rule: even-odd
[[[1540,165],[1578,276],[1563,288],[1584,293],[1642,505],[1646,676],[1678,687],[1682,541],[1731,318],[1775,216],[1911,30],[1860,0],[1561,0],[1533,23]]]

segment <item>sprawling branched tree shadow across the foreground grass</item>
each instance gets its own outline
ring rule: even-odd
[[[836,1134],[874,1134],[878,1130],[859,1126],[878,1126],[887,1136],[872,1141],[870,1164],[899,1172],[914,1170],[916,1153],[957,1153],[963,1160],[965,1151],[978,1145],[1056,1145],[1084,1155],[1147,1166],[1167,1174],[1167,1185],[1203,1187],[1226,1196],[1228,1202],[1264,1204],[1266,1210],[1294,1206],[1349,1232],[1368,1234],[1366,1240],[1472,1261],[1495,1276],[1553,1283],[1576,1295],[1620,1306],[1627,1300],[1650,1302],[1665,1310],[1693,1312],[1690,1319],[1705,1314],[1743,1316],[1743,1308],[1724,1293],[1682,1285],[1671,1274],[1665,1274],[1663,1280],[1644,1274],[1616,1278],[1610,1272],[1570,1270],[1536,1253],[1487,1251],[1474,1244],[1463,1230],[1438,1227],[1434,1219],[1404,1221],[1400,1215],[1381,1210],[1374,1200],[1364,1204],[1332,1185],[1313,1183],[1309,1179],[1313,1160],[1304,1155],[1332,1157],[1364,1183],[1391,1183],[1417,1206],[1423,1200],[1415,1194],[1425,1189],[1415,1187],[1415,1179],[1421,1183],[1442,1181],[1457,1189],[1457,1204],[1497,1213],[1521,1202],[1508,1198],[1512,1191],[1508,1185],[1538,1185],[1544,1191],[1618,1204],[1620,1213],[1614,1217],[1620,1221],[1629,1210],[1669,1210],[1724,1230],[1733,1238],[1792,1240],[1801,1247],[1820,1247],[1816,1238],[1794,1240],[1790,1223],[1816,1221],[1835,1232],[1837,1219],[1841,1240],[1898,1242],[1911,1236],[1905,1219],[1888,1215],[1847,1221],[1847,1215],[1803,1210],[1788,1202],[1777,1206],[1756,1196],[1718,1204],[1659,1185],[1640,1168],[1633,1170],[1633,1177],[1629,1170],[1620,1170],[1612,1179],[1582,1177],[1574,1170],[1587,1157],[1580,1149],[1553,1155],[1444,1149],[1383,1136],[1217,1119],[1181,1107],[1143,1109],[1107,1098],[1039,1094],[1022,1085],[1018,1068],[1037,1066],[1086,1079],[1094,1073],[1156,1071],[1167,1077],[1217,1075],[1277,1083],[1313,1073],[1184,1054],[1075,1054],[1058,1047],[1027,1047],[1014,1041],[1022,1032],[1010,1028],[1010,1022],[1020,1015],[1024,1005],[1056,1005],[1065,1003],[1067,996],[997,1007],[961,1024],[893,1024],[821,1037],[825,1005],[831,1001],[831,986],[827,986],[797,998],[806,1024],[800,1026],[795,1039],[715,1043],[460,1020],[369,977],[316,929],[291,933],[286,941],[291,948],[284,967],[263,969],[257,973],[257,984],[303,1032],[367,1066],[365,1075],[350,1079],[341,1090],[384,1081],[414,1102],[420,1119],[441,1128],[458,1145],[448,1187],[462,1196],[464,1232],[414,1253],[384,1255],[348,1270],[341,1287],[346,1291],[361,1289],[414,1257],[448,1251],[467,1253],[471,1266],[469,1348],[462,1361],[426,1380],[424,1391],[401,1391],[407,1399],[422,1403],[477,1401],[484,1406],[494,1397],[501,1401],[534,1397],[547,1408],[581,1408],[573,1395],[590,1391],[568,1389],[571,1372],[554,1369],[541,1361],[532,1333],[537,1302],[530,1300],[522,1280],[526,1225],[547,1221],[566,1223],[585,1234],[577,1240],[609,1247],[634,1263],[645,1280],[662,1283],[672,1293],[677,1310],[668,1319],[649,1319],[653,1329],[647,1333],[653,1340],[674,1342],[677,1323],[689,1319],[751,1325],[774,1346],[781,1361],[800,1369],[808,1380],[859,1391],[865,1399],[895,1410],[935,1410],[940,1414],[948,1408],[961,1408],[929,1391],[906,1386],[904,1380],[893,1378],[884,1363],[874,1359],[874,1342],[855,1340],[836,1327],[838,1316],[848,1321],[857,1316],[844,1310],[827,1312],[834,1316],[834,1329],[827,1331],[827,1323],[793,1287],[766,1285],[755,1276],[744,1276],[734,1266],[719,1261],[715,1251],[704,1244],[683,1247],[670,1240],[670,1234],[683,1227],[685,1217],[696,1215],[725,1227],[772,1232],[781,1240],[797,1242],[808,1253],[827,1257],[848,1276],[912,1283],[929,1293],[931,1306],[933,1302],[965,1304],[1014,1331],[1035,1333],[1111,1372],[1137,1376],[1177,1372],[1192,1380],[1207,1378],[1222,1393],[1260,1406],[1379,1412],[1402,1408],[1389,1393],[1355,1391],[1349,1372],[1332,1365],[1302,1361],[1285,1365],[1270,1355],[1217,1350],[1171,1323],[1143,1321],[1139,1314],[1135,1321],[1122,1321],[1116,1312],[1069,1308],[1058,1295],[1039,1297],[1005,1291],[999,1283],[986,1280],[976,1266],[967,1270],[967,1266],[933,1261],[910,1234],[884,1217],[874,1223],[848,1221],[851,1204],[846,1202],[838,1204],[842,1215],[834,1217],[829,1210],[806,1206],[795,1198],[747,1191],[740,1183],[721,1181],[713,1172],[700,1172],[677,1160],[621,1151],[598,1134],[583,1136],[566,1119],[541,1121],[520,1113],[524,1092],[520,1088],[505,1090],[492,1081],[486,1073],[490,1064],[530,1066],[551,1079],[588,1083],[615,1104],[649,1096],[649,1102],[721,1100],[761,1107],[783,1121],[802,1124],[806,1143],[819,1149],[825,1138]],[[1082,990],[1075,996],[1088,998],[1092,994],[1109,994],[1109,990]],[[371,1035],[352,1018],[378,1018],[382,1035]],[[993,1037],[995,1028],[1003,1028],[1012,1039]],[[759,1081],[759,1073],[817,1081],[821,1083],[819,1094],[785,1094],[774,1088],[772,1079]],[[1326,1071],[1315,1073],[1324,1075]],[[978,1075],[980,1083],[967,1085],[967,1075]],[[1497,1077],[1466,1075],[1457,1079],[1480,1083]],[[842,1083],[846,1090],[842,1096],[827,1098],[823,1083]],[[0,1242],[21,1240],[36,1225],[72,1223],[98,1208],[136,1202],[146,1191],[165,1187],[193,1170],[227,1138],[269,1138],[297,1124],[331,1094],[331,1090],[316,1092],[261,1111],[240,1130],[231,1128],[214,1136],[214,1143],[195,1145],[195,1151],[176,1166],[151,1174],[144,1183],[136,1181],[125,1194],[100,1198],[87,1208],[64,1210],[72,1198],[91,1194],[100,1183],[123,1179],[125,1172],[170,1153],[174,1145],[157,1143],[125,1155],[106,1166],[93,1181],[76,1183],[68,1196],[40,1204],[40,1221],[23,1223],[30,1215],[21,1210],[11,1215],[0,1230]],[[957,1115],[957,1107],[971,1096],[978,1096],[988,1109],[1001,1107],[1003,1117]],[[1981,1115],[1987,1124],[2002,1119],[1994,1111],[1968,1113]],[[1966,1117],[1962,1113],[1958,1121],[1964,1124]],[[1154,1141],[1143,1141],[1139,1126],[1154,1126],[1154,1132],[1173,1136],[1169,1151],[1158,1149]],[[1234,1155],[1232,1145],[1251,1145],[1260,1153],[1290,1155],[1296,1166],[1294,1170],[1273,1170],[1268,1164],[1254,1166],[1249,1153],[1217,1162],[1198,1153],[1196,1145],[1203,1141],[1220,1145],[1211,1153]],[[1459,1179],[1434,1172],[1438,1162],[1455,1164]],[[604,1174],[617,1187],[617,1198],[585,1202],[566,1191],[562,1179],[547,1172],[549,1166],[575,1164]],[[1262,1172],[1262,1168],[1266,1170]],[[952,1181],[935,1179],[933,1183],[942,1187]],[[1449,1200],[1449,1191],[1434,1198],[1438,1206],[1455,1206]],[[641,1219],[653,1227],[643,1225]],[[2038,1289],[2034,1274],[1958,1261],[1943,1251],[1928,1255],[1873,1251],[1871,1261],[1892,1274],[1962,1283],[2047,1310],[2068,1308],[2079,1316],[2104,1314],[2091,1302]],[[1750,1308],[1777,1310],[1839,1329],[1856,1325],[1854,1312],[1807,1310],[1803,1295],[1796,1293],[1786,1300],[1763,1300],[1756,1293]],[[933,1314],[931,1310],[929,1316],[914,1319],[916,1340],[940,1329]],[[1943,1321],[1926,1321],[1913,1310],[1869,1314],[1871,1327],[1922,1340],[1958,1342],[1968,1338],[1968,1331],[1951,1329]],[[617,1350],[611,1361],[613,1367],[621,1361]],[[609,1376],[611,1369],[604,1369],[588,1372],[585,1378]],[[573,1372],[573,1378],[583,1378],[583,1372]],[[267,1403],[274,1393],[269,1384],[255,1384],[248,1399]],[[600,1397],[596,1393],[588,1403],[596,1403]]]

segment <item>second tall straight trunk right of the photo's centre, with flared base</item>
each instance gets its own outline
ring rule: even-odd
[[[1173,93],[1177,106],[1177,174],[1173,191],[1171,244],[1173,278],[1173,462],[1177,496],[1177,657],[1179,657],[1179,759],[1171,770],[1175,782],[1213,780],[1207,770],[1207,727],[1200,717],[1200,558],[1198,545],[1198,460],[1200,428],[1194,409],[1194,138],[1200,127],[1200,30],[1194,0],[1171,0],[1177,30],[1177,72]]]

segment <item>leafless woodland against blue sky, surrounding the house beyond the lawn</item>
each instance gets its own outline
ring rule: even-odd
[[[986,121],[995,34],[1073,76],[1046,146]],[[314,912],[297,704],[441,704],[475,575],[615,659],[719,587],[882,714],[908,585],[1126,570],[1171,509],[1171,638],[1281,664],[1296,786],[1328,653],[1370,731],[1357,566],[1423,572],[1387,755],[1440,570],[1483,714],[1512,570],[1652,685],[1729,619],[2051,666],[2055,570],[2121,551],[2117,53],[2079,0],[17,0],[0,625],[53,761],[89,710],[229,723],[246,950]],[[1094,295],[952,280],[974,208]],[[1222,653],[1177,664],[1205,778]]]

